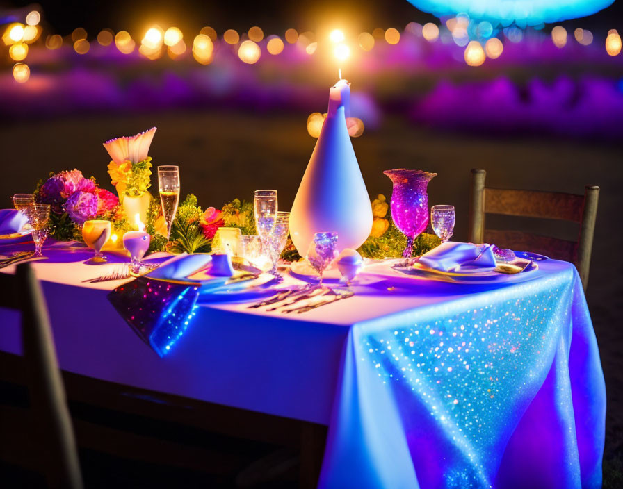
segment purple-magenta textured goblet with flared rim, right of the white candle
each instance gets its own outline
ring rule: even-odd
[[[413,242],[428,226],[428,194],[426,188],[436,173],[420,169],[387,169],[383,172],[394,183],[391,192],[391,219],[407,236],[407,247],[403,251],[405,265],[409,265],[413,253]]]

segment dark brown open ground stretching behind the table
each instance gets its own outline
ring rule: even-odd
[[[150,154],[156,165],[180,165],[182,194],[193,192],[207,207],[221,206],[234,197],[251,199],[256,188],[277,188],[280,208],[286,209],[314,148],[305,119],[305,115],[184,112],[91,115],[3,125],[2,205],[10,206],[13,193],[31,191],[51,170],[77,167],[107,185],[108,156],[102,142],[157,126]],[[418,129],[401,119],[386,119],[378,131],[366,131],[354,140],[354,146],[371,195],[391,194],[384,169],[409,167],[437,172],[439,176],[429,185],[430,204],[455,205],[456,240],[467,239],[471,168],[486,169],[491,186],[574,193],[583,193],[585,184],[601,187],[587,296],[608,392],[606,457],[620,457],[622,147],[575,140],[454,135]],[[569,239],[576,236],[576,229],[569,226],[555,226],[553,231]]]

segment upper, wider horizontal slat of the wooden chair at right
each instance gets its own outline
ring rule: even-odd
[[[485,213],[581,222],[583,206],[583,195],[485,188]]]

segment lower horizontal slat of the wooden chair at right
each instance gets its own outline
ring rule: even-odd
[[[558,238],[549,238],[521,231],[496,231],[485,229],[485,242],[500,248],[516,251],[533,251],[534,253],[556,258],[556,260],[575,260],[577,243]]]

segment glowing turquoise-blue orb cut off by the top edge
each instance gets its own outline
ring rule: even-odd
[[[407,0],[437,17],[466,13],[493,26],[520,28],[592,15],[614,0]]]

